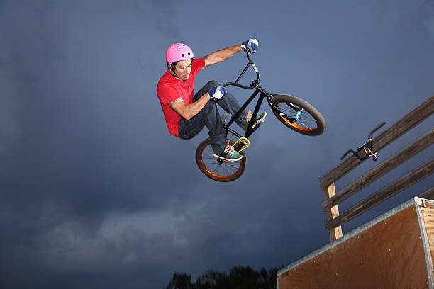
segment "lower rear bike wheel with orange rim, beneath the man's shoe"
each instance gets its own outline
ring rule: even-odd
[[[233,145],[233,143],[233,140],[229,140],[229,145]],[[214,181],[235,181],[245,171],[245,153],[241,151],[240,154],[243,155],[243,158],[237,162],[225,161],[218,164],[218,159],[213,156],[211,138],[207,138],[197,146],[196,164],[205,176]]]

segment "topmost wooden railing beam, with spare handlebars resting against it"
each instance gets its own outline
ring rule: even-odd
[[[377,152],[386,145],[389,145],[390,142],[396,140],[396,138],[413,128],[425,118],[428,118],[428,116],[430,116],[432,113],[434,113],[434,96],[428,98],[426,101],[421,103],[420,106],[405,115],[404,118],[401,118],[401,120],[382,132],[382,134],[375,137],[375,139],[372,140],[373,152]],[[360,157],[365,156],[365,152],[360,152]],[[321,190],[327,188],[330,183],[334,183],[361,163],[362,161],[357,159],[357,157],[354,155],[345,159],[345,161],[338,164],[338,166],[335,166],[334,169],[330,170],[327,174],[321,177],[319,180],[319,186]]]

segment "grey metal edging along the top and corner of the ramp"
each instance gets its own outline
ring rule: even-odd
[[[340,237],[339,239],[337,239],[333,242],[330,242],[329,244],[326,244],[325,246],[322,246],[320,249],[313,251],[311,254],[308,254],[308,255],[304,256],[303,258],[295,261],[294,263],[291,263],[291,265],[280,269],[279,271],[277,271],[277,277],[281,276],[283,273],[286,273],[287,271],[291,270],[292,268],[299,266],[301,263],[304,263],[304,262],[318,256],[319,254],[323,253],[324,251],[327,251],[327,250],[333,248],[333,246],[336,246],[342,242],[345,242],[347,239],[355,237],[360,232],[364,231],[365,229],[367,229],[369,227],[376,225],[379,222],[382,222],[382,220],[385,220],[386,218],[390,217],[391,215],[395,215],[397,212],[400,212],[401,210],[404,210],[404,209],[410,207],[411,205],[416,205],[416,207],[417,207],[417,205],[420,205],[420,204],[421,204],[421,199],[418,197],[414,197],[414,198],[411,198],[410,200],[407,200],[405,203],[402,203],[401,205],[398,205],[395,208],[393,208],[387,212],[384,212],[384,214],[379,215],[378,217],[375,217],[374,219],[370,220],[369,222],[366,222],[365,224],[360,225],[356,229],[353,229],[352,231],[343,235],[343,237]],[[418,211],[418,210],[416,210],[416,211]],[[419,219],[419,225],[421,225],[421,218],[419,216],[419,212],[418,212],[418,219]],[[425,240],[423,241],[423,244],[425,247]],[[426,250],[425,250],[425,255],[426,255]],[[428,268],[429,268],[429,266],[428,266]],[[431,282],[432,282],[432,280],[430,280],[430,285],[431,285]],[[432,287],[430,286],[430,288],[432,288]]]

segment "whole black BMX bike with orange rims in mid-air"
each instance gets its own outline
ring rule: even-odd
[[[321,133],[323,133],[325,130],[325,120],[323,115],[321,115],[321,113],[319,113],[319,111],[307,101],[287,94],[270,94],[259,85],[260,73],[255,66],[255,63],[252,62],[250,57],[251,52],[251,50],[247,50],[247,60],[249,62],[243,69],[243,72],[241,72],[238,76],[238,79],[236,79],[235,82],[227,82],[226,84],[223,84],[224,87],[237,86],[242,89],[255,89],[250,98],[245,101],[243,106],[241,106],[238,112],[232,116],[227,124],[225,124],[226,117],[224,119],[222,118],[223,127],[226,130],[226,137],[228,132],[231,132],[233,135],[238,137],[236,142],[227,138],[228,145],[233,145],[234,149],[243,155],[243,158],[237,162],[228,162],[226,160],[214,157],[213,149],[211,147],[211,138],[203,140],[196,149],[196,164],[199,166],[199,169],[202,173],[215,181],[234,181],[235,179],[238,179],[245,171],[246,157],[243,149],[250,145],[248,137],[250,137],[250,135],[252,135],[252,133],[259,128],[259,126],[253,128],[253,124],[256,122],[256,116],[264,98],[267,99],[267,102],[272,108],[272,112],[276,118],[291,130],[299,132],[303,135],[321,135]],[[252,66],[252,68],[255,70],[257,78],[252,81],[250,86],[239,84],[238,82],[250,66]],[[240,135],[238,132],[235,132],[235,130],[230,128],[230,125],[234,123],[234,121],[240,116],[241,113],[243,113],[244,109],[258,94],[259,98],[257,99],[250,123],[247,125],[245,135]]]

